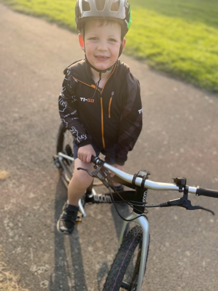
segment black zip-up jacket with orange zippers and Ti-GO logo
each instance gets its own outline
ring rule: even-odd
[[[64,74],[59,112],[76,145],[107,148],[116,144],[116,163],[124,164],[142,129],[139,81],[121,61],[96,92],[85,60],[70,65]]]

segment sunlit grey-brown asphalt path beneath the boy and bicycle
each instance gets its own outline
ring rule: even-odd
[[[77,36],[2,4],[0,27],[0,171],[9,173],[0,181],[0,260],[31,291],[101,290],[122,225],[114,207],[87,205],[87,218],[70,237],[55,226],[67,195],[53,165],[57,97],[64,68],[83,58]],[[121,60],[140,81],[144,114],[126,171],[146,169],[159,182],[184,176],[190,186],[218,189],[218,95],[125,55]],[[150,191],[147,202],[179,197]],[[189,197],[216,215],[178,207],[149,210],[144,291],[217,291],[218,200]]]

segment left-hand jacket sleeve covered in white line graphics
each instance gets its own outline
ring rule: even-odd
[[[64,74],[65,78],[58,100],[60,118],[64,126],[67,127],[74,136],[76,145],[80,147],[91,143],[91,137],[86,133],[79,120],[76,80],[73,79],[70,68],[65,69]]]

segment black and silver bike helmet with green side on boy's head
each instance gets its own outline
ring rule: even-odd
[[[77,29],[83,32],[88,19],[114,20],[121,24],[121,39],[130,28],[132,17],[127,0],[77,0],[75,21]]]

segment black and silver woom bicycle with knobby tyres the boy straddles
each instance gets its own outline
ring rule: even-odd
[[[57,155],[54,157],[54,162],[60,171],[61,178],[66,187],[72,177],[74,165],[71,148],[73,144],[72,139],[69,130],[61,125],[58,132]],[[103,291],[140,291],[149,251],[149,222],[144,213],[145,208],[180,206],[187,210],[203,209],[214,214],[211,210],[204,207],[192,206],[191,201],[188,200],[188,194],[192,193],[196,196],[204,195],[218,198],[218,191],[187,186],[186,178],[183,177],[175,178],[173,183],[154,182],[148,179],[150,175],[148,171],[142,170],[135,175],[130,175],[105,163],[99,157],[92,157],[92,162],[95,165],[93,171],[85,168],[80,169],[99,179],[109,189],[109,193],[97,194],[95,191],[96,184],[90,185],[86,190],[86,194],[79,201],[81,215],[78,217],[77,223],[81,222],[81,217],[86,217],[84,210],[86,203],[114,203],[117,212],[116,202],[126,203],[132,207],[132,213],[126,218],[122,217],[118,212],[124,223],[120,234],[118,252],[107,275]],[[119,182],[132,190],[112,192],[113,183],[110,178],[110,172],[115,174],[112,178],[113,181]],[[165,203],[147,204],[148,189],[178,191],[183,193],[183,196]],[[130,221],[134,221],[137,225],[128,231]]]

